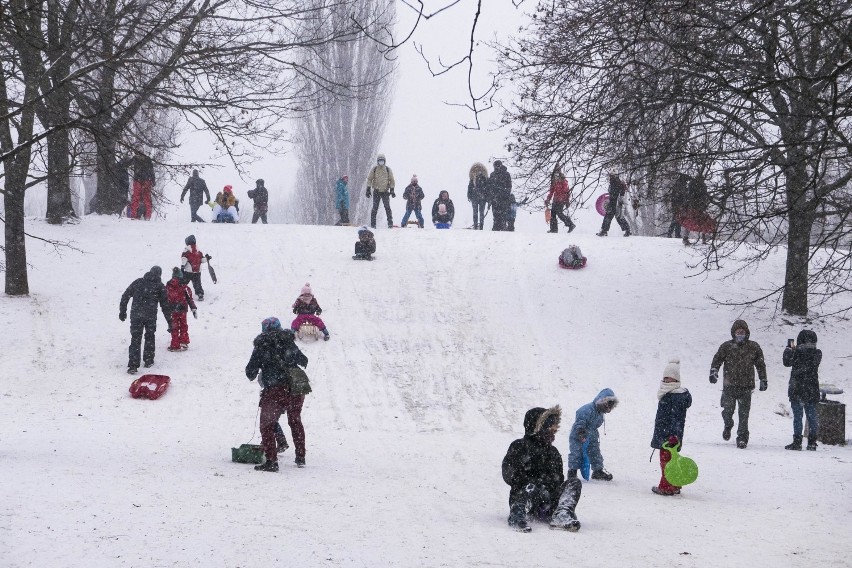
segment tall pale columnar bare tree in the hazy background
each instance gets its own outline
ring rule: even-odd
[[[371,37],[390,41],[395,19],[391,0],[355,0],[350,6],[315,0],[311,25],[340,39],[304,50],[303,65],[345,91],[317,91],[313,112],[300,118],[296,147],[299,170],[291,211],[308,224],[335,220],[334,182],[349,175],[353,218],[366,214],[362,199],[370,165],[385,129],[393,90],[394,62]]]

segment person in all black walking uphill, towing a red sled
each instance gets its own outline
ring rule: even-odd
[[[155,333],[157,331],[157,305],[160,306],[163,317],[169,322],[166,287],[162,280],[163,269],[152,266],[142,278],[133,281],[124,294],[121,295],[118,319],[127,319],[127,302],[133,298],[130,308],[130,349],[127,361],[127,372],[131,375],[139,370],[142,335],[145,335],[145,350],[142,361],[146,367],[154,364]]]

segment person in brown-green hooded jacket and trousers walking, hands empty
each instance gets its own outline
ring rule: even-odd
[[[713,362],[710,363],[710,383],[719,380],[719,369],[725,366],[722,381],[722,420],[725,428],[722,439],[731,439],[734,427],[734,410],[739,408],[737,426],[737,447],[744,450],[748,446],[748,415],[751,411],[751,394],[754,392],[754,370],[760,379],[760,390],[765,391],[769,383],[766,380],[766,362],[763,349],[756,341],[749,339],[748,324],[737,320],[731,326],[731,340],[719,346]]]

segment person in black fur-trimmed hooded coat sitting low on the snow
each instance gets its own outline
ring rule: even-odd
[[[524,437],[509,445],[503,458],[503,481],[509,487],[509,526],[529,532],[527,514],[550,521],[553,528],[578,531],[575,508],[583,488],[577,478],[567,481],[562,456],[553,446],[562,410],[533,408],[524,416]]]

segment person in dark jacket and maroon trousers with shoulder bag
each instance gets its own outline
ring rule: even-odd
[[[260,375],[260,438],[266,461],[256,466],[258,471],[278,471],[278,445],[283,432],[276,435],[278,419],[287,412],[287,423],[296,446],[296,465],[305,465],[305,427],[302,425],[302,405],[305,395],[290,392],[290,369],[306,367],[308,358],[296,346],[295,335],[289,329],[282,329],[276,317],[266,318],[260,324],[261,334],[254,339],[254,349],[248,365],[246,377],[253,381]],[[286,440],[283,441],[286,446]],[[285,448],[282,447],[283,451]]]

